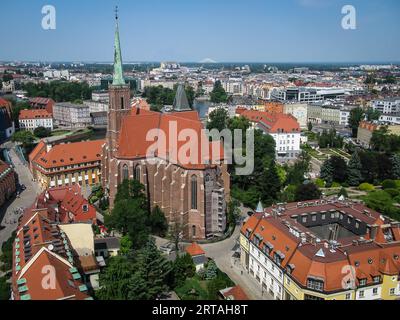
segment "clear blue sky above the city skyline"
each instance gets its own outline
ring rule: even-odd
[[[41,28],[47,4],[56,30]],[[115,5],[124,61],[400,61],[399,0],[1,1],[0,60],[112,61]]]

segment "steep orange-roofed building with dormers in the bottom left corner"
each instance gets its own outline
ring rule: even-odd
[[[66,234],[47,209],[27,210],[13,244],[13,300],[89,300]]]

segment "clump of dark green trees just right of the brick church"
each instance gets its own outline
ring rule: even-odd
[[[250,128],[250,122],[244,117],[230,119],[225,109],[211,112],[207,128],[222,131],[229,129],[242,130],[242,136]],[[243,141],[242,150],[245,150]],[[261,200],[265,206],[278,201],[303,201],[321,196],[318,188],[305,184],[310,170],[310,156],[303,152],[298,161],[292,165],[280,166],[276,163],[275,140],[261,130],[254,131],[254,171],[250,175],[236,175],[237,164],[229,167],[231,174],[232,196],[245,206],[255,208]],[[285,190],[283,194],[282,190]]]

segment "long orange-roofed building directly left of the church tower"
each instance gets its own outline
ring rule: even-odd
[[[42,140],[29,156],[34,178],[43,190],[79,185],[83,189],[101,181],[104,140],[51,146]]]

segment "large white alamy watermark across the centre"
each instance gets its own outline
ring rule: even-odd
[[[168,141],[167,141],[168,139]],[[237,175],[251,175],[254,171],[254,130],[229,129],[194,130],[178,132],[176,121],[170,121],[168,134],[161,129],[147,132],[147,142],[153,142],[146,151],[146,161],[155,164],[157,158],[166,158],[172,164],[217,165],[235,164]],[[210,142],[211,141],[211,142]]]

